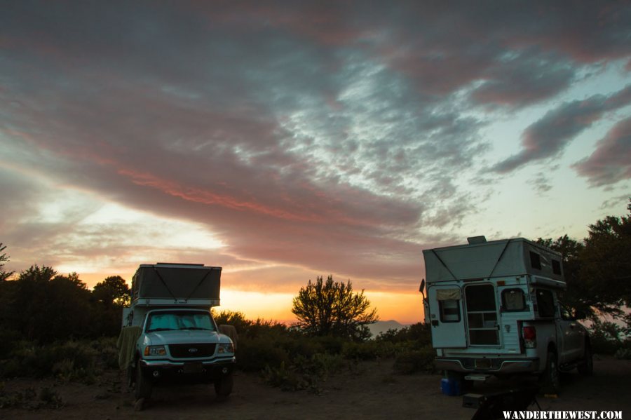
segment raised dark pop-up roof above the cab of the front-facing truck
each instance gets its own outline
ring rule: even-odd
[[[221,267],[203,264],[142,264],[132,280],[132,302],[189,299],[219,302]]]

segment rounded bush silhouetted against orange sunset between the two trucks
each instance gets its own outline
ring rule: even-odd
[[[306,287],[301,287],[294,297],[292,313],[298,318],[295,326],[308,334],[351,339],[369,337],[367,325],[379,320],[364,290],[353,293],[350,280],[334,282],[332,276],[326,281],[317,277],[315,283],[309,280]]]

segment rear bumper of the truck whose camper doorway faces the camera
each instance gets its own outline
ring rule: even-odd
[[[484,360],[484,367],[480,360]],[[437,370],[463,373],[514,374],[539,372],[539,358],[435,358]]]

